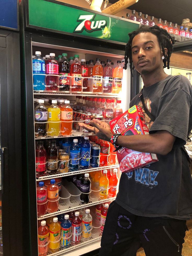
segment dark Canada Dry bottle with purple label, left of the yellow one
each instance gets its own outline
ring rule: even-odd
[[[35,136],[45,137],[47,135],[48,111],[44,105],[44,100],[39,100],[35,107]]]

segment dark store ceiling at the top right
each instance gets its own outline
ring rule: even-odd
[[[117,0],[111,0],[116,3]],[[189,18],[192,22],[192,1],[191,0],[139,0],[137,3],[128,7],[130,10],[142,11],[143,14],[161,18],[162,20],[172,21],[181,25],[182,20]]]

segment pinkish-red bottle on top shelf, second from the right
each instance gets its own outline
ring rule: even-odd
[[[107,65],[104,67],[103,71],[103,92],[111,93],[112,82],[113,82],[113,68],[111,67],[111,60],[107,59]]]

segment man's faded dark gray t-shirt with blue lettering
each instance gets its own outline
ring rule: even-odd
[[[192,128],[192,88],[181,75],[169,75],[162,81],[143,88],[147,109],[154,122],[144,113],[149,133],[167,130],[176,137],[170,153],[158,154],[159,161],[122,173],[116,202],[129,212],[146,217],[192,218],[192,178],[184,151]],[[130,107],[139,105],[139,95]]]

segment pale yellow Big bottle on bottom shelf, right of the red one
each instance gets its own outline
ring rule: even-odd
[[[88,240],[91,237],[92,230],[92,216],[90,210],[86,209],[85,214],[82,217],[82,238],[84,241]]]

